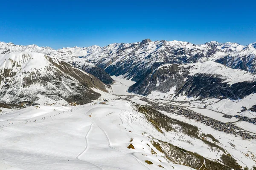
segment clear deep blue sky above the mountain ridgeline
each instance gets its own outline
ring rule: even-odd
[[[105,46],[151,40],[256,41],[256,0],[3,0],[0,41]]]

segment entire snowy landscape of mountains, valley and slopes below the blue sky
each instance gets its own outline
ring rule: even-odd
[[[255,75],[214,62],[245,46],[143,40],[0,48],[0,169],[256,165]]]

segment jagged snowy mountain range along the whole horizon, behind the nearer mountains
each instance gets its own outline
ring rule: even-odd
[[[195,45],[176,40],[151,41],[146,39],[136,43],[113,43],[104,47],[75,46],[55,50],[50,47],[19,46],[0,42],[0,53],[12,52],[40,52],[61,58],[68,63],[80,57],[85,61],[79,60],[79,62],[89,61],[105,69],[110,75],[123,75],[134,81],[139,81],[141,77],[148,75],[163,63],[197,63],[212,60],[230,68],[256,72],[256,43],[242,46],[238,43],[211,41]],[[79,66],[81,67],[81,65]],[[84,71],[88,71],[88,69],[84,69]],[[90,73],[93,74],[93,71]],[[103,75],[107,76],[105,73]],[[97,74],[95,76],[101,79]],[[110,77],[106,79],[108,81],[105,83],[113,82]],[[102,81],[104,82],[104,80]]]

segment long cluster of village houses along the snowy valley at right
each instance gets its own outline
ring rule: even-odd
[[[186,118],[194,119],[196,121],[200,121],[201,123],[206,124],[207,126],[212,127],[215,130],[231,133],[236,136],[241,136],[244,139],[256,139],[256,135],[251,135],[250,133],[244,131],[240,127],[232,124],[231,122],[223,123],[217,121],[215,119],[209,118],[205,115],[201,115],[199,113],[193,112],[192,110],[183,108],[183,107],[176,107],[176,106],[166,106],[166,105],[159,105],[156,103],[150,102],[152,108],[157,110],[162,110],[169,113],[175,113],[177,115],[183,115]]]

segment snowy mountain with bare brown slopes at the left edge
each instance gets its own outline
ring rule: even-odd
[[[93,89],[108,91],[93,75],[55,57],[35,52],[0,54],[0,102],[85,104],[99,98]]]

